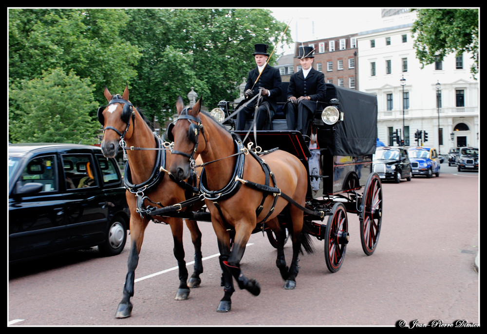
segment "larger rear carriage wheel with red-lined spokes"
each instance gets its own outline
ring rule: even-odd
[[[377,173],[370,174],[365,184],[359,220],[362,249],[366,255],[372,255],[382,222],[382,183]]]

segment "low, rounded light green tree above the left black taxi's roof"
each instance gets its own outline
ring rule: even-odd
[[[99,124],[90,111],[94,86],[71,71],[60,68],[43,72],[42,78],[15,85],[10,99],[16,110],[9,110],[9,141],[95,144]]]

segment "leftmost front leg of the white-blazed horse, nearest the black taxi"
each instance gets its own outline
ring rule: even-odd
[[[130,238],[131,249],[129,254],[129,260],[127,261],[127,276],[125,277],[125,284],[123,288],[123,297],[118,304],[116,318],[126,318],[131,316],[132,303],[130,298],[133,297],[133,288],[135,280],[135,268],[139,263],[139,253],[142,247],[142,241],[144,240],[144,230],[147,227],[149,221],[147,219],[141,219],[138,215],[131,215],[130,218]]]

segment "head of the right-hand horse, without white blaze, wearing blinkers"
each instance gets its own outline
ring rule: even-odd
[[[200,135],[204,136],[200,119],[201,104],[200,97],[192,108],[185,108],[183,98],[178,96],[178,119],[168,127],[168,139],[174,142],[170,172],[178,180],[189,177],[195,159],[206,147],[206,140],[200,141]]]

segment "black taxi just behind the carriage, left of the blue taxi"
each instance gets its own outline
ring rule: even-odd
[[[395,183],[400,183],[401,179],[411,181],[411,162],[406,148],[377,147],[372,161],[374,172],[382,180],[392,180]]]

